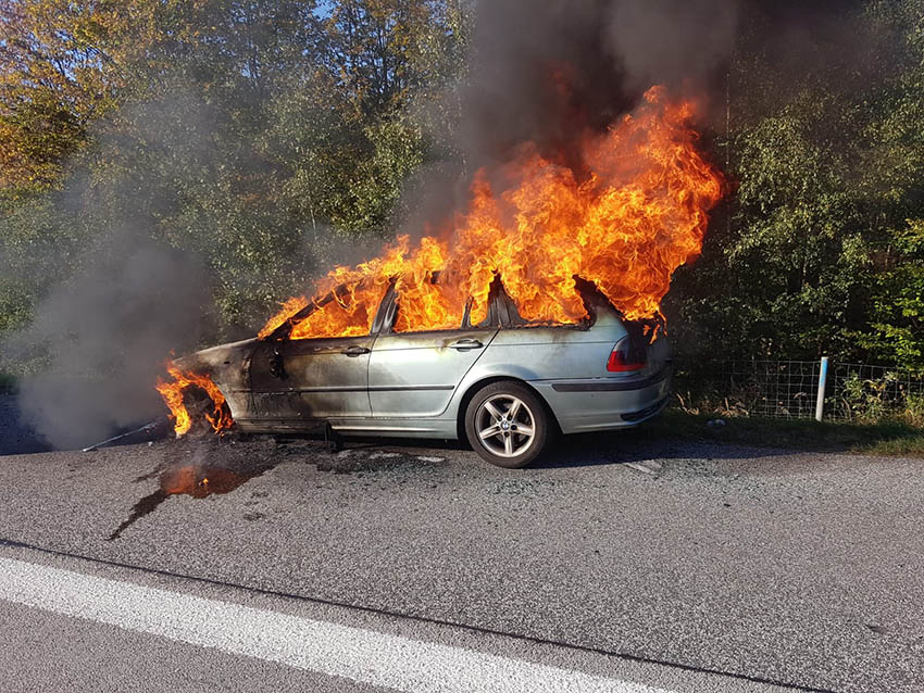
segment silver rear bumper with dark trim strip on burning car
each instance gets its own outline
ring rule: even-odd
[[[635,426],[657,415],[671,395],[672,368],[642,377],[530,382],[564,433]]]

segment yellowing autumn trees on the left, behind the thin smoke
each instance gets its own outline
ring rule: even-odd
[[[252,333],[394,232],[462,40],[436,0],[0,2],[0,333],[120,239],[198,259],[209,339]]]

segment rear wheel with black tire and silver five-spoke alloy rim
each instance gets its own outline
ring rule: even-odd
[[[546,446],[550,416],[539,396],[512,380],[485,386],[465,410],[465,434],[478,455],[498,467],[517,469]]]

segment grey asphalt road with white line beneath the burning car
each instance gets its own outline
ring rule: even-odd
[[[516,471],[273,439],[0,456],[3,690],[920,692],[922,471],[644,429]]]

